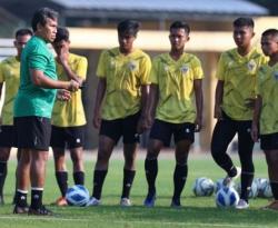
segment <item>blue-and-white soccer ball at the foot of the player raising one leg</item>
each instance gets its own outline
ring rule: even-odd
[[[219,208],[232,208],[239,201],[238,192],[235,188],[224,187],[216,194],[216,205]]]

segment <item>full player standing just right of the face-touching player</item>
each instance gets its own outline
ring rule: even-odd
[[[108,162],[118,140],[123,138],[123,184],[120,205],[130,206],[130,189],[136,175],[135,159],[142,131],[141,119],[149,87],[151,61],[133,48],[139,23],[125,20],[118,24],[119,47],[101,53],[93,110],[93,126],[99,130],[98,159],[93,174],[93,192],[88,206],[100,204]],[[102,107],[101,107],[102,105]]]

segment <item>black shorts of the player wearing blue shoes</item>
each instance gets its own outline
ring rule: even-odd
[[[149,138],[158,139],[163,142],[163,146],[169,147],[172,135],[176,143],[180,140],[189,140],[192,143],[195,141],[195,125],[190,122],[171,123],[156,119]]]

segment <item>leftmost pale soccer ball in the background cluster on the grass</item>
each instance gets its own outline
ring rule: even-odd
[[[211,196],[215,191],[215,184],[211,179],[206,177],[197,178],[192,191],[197,197]]]

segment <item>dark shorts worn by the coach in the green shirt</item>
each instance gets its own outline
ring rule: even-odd
[[[51,136],[51,122],[43,117],[13,118],[18,135],[18,148],[48,151]]]

